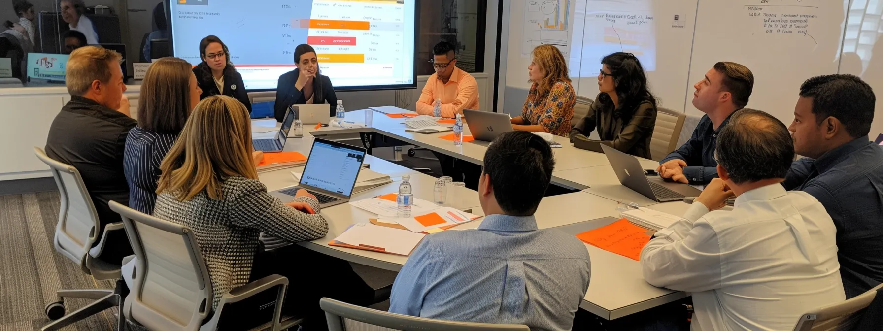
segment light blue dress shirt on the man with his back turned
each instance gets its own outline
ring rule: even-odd
[[[589,288],[589,252],[533,216],[492,214],[479,229],[426,236],[393,284],[389,312],[570,330]]]

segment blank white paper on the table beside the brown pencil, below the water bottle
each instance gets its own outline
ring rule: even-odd
[[[371,223],[357,223],[334,240],[341,244],[378,249],[398,255],[411,254],[426,235],[406,229],[393,229]]]

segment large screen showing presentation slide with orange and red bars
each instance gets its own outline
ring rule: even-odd
[[[413,87],[416,1],[170,0],[173,54],[199,64],[214,34],[245,88],[275,89],[306,43],[338,90]]]

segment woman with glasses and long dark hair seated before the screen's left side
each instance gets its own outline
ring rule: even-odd
[[[245,93],[242,75],[230,62],[230,50],[220,38],[214,35],[200,41],[200,57],[202,62],[193,68],[193,74],[200,83],[202,94],[200,100],[209,95],[223,94],[236,98],[245,105],[248,113],[252,113],[252,102]]]

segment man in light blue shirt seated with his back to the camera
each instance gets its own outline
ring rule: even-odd
[[[426,236],[396,277],[389,312],[570,330],[591,268],[585,244],[537,229],[533,217],[552,179],[552,149],[530,132],[507,132],[484,161],[479,229]]]

